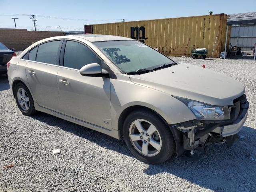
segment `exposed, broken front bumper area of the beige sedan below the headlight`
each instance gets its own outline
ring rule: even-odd
[[[192,120],[170,125],[176,142],[176,157],[187,150],[204,150],[205,146],[216,143],[231,146],[236,134],[242,129],[247,115],[249,103],[245,95],[233,101],[230,106],[230,120],[206,121]]]

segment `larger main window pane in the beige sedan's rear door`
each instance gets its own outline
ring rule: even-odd
[[[38,46],[36,61],[48,64],[57,64],[57,53],[60,45],[59,41],[51,41]]]

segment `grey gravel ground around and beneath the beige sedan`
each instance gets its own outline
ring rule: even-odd
[[[173,59],[244,84],[250,112],[234,146],[211,145],[193,162],[145,164],[104,134],[44,113],[22,115],[0,76],[0,191],[256,191],[256,62]],[[2,168],[8,164],[15,166]]]

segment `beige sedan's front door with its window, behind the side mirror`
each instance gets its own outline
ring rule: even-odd
[[[63,66],[58,70],[58,90],[63,114],[111,129],[110,78],[82,76],[80,68],[102,60],[85,44],[64,43]]]

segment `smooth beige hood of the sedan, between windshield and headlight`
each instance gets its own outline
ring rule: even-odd
[[[211,105],[232,105],[244,94],[244,86],[224,74],[180,63],[140,75],[130,75],[135,84]],[[159,98],[160,99],[160,98]]]

